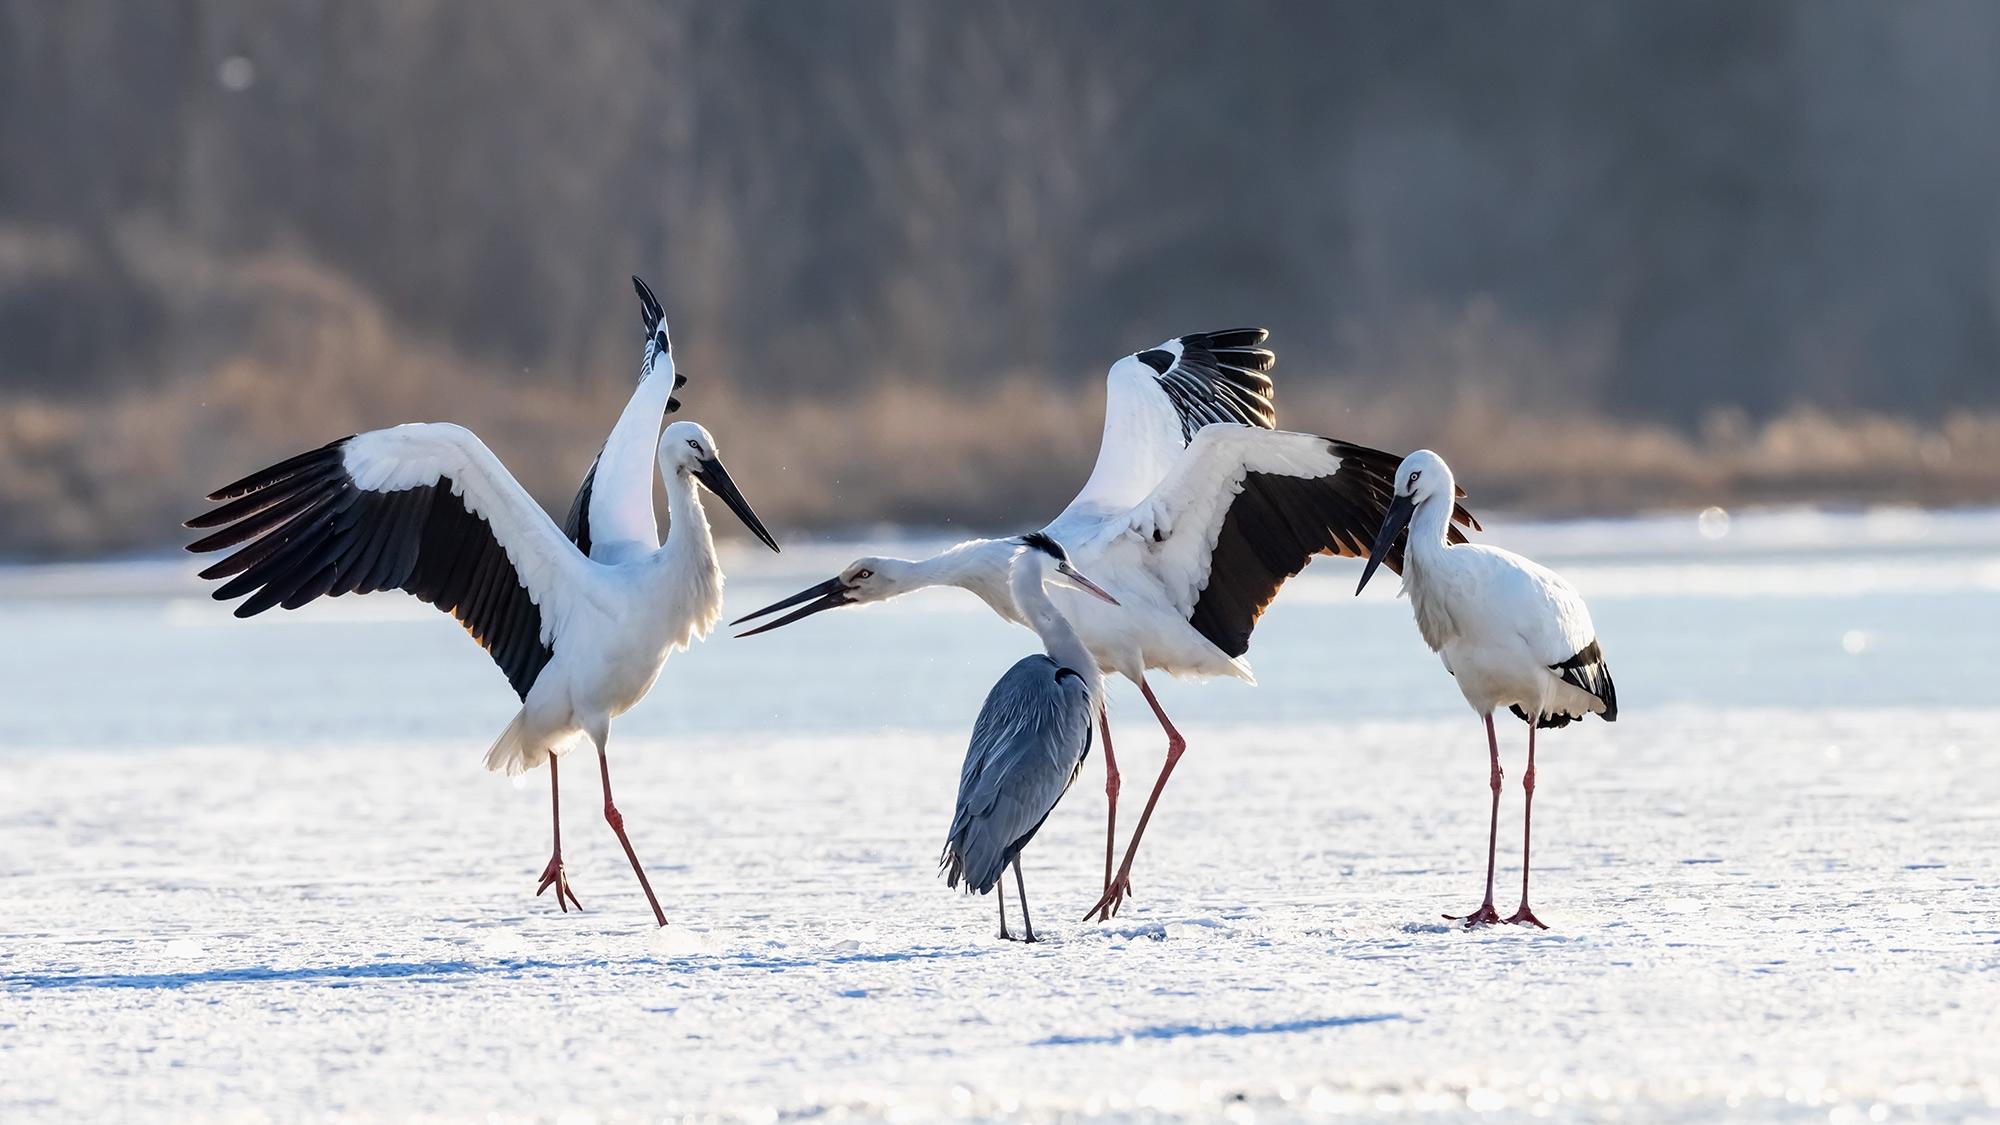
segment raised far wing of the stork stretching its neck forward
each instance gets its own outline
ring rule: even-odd
[[[1084,490],[1058,520],[1124,512],[1172,468],[1180,450],[1212,422],[1272,428],[1264,328],[1194,332],[1112,364],[1104,388],[1104,440]]]

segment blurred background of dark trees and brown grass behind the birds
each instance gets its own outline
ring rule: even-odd
[[[1038,522],[1108,362],[1234,324],[1488,506],[1992,500],[1994,58],[1972,0],[0,0],[0,556],[414,418],[560,510],[634,272],[774,526]]]

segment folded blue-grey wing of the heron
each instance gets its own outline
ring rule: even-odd
[[[944,845],[946,881],[986,893],[1062,801],[1090,753],[1084,677],[1046,655],[1016,663],[986,695]]]

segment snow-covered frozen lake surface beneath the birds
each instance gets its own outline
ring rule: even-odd
[[[1582,587],[1624,709],[1542,741],[1550,933],[1438,917],[1480,893],[1482,733],[1354,562],[1272,609],[1260,687],[1162,685],[1190,751],[1112,925],[1086,765],[1036,947],[936,879],[1034,647],[970,597],[668,665],[612,733],[656,933],[588,769],[588,913],[532,897],[546,779],[478,769],[512,697],[428,607],[0,571],[0,1119],[2000,1115],[2000,516],[1488,538]],[[728,609],[856,552],[732,552]],[[1162,745],[1112,703],[1128,827]]]

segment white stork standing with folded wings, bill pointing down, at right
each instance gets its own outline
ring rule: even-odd
[[[1528,923],[1542,919],[1528,909],[1528,845],[1534,827],[1534,731],[1568,727],[1586,715],[1618,721],[1618,689],[1604,667],[1598,631],[1574,587],[1554,571],[1512,550],[1484,544],[1452,544],[1444,496],[1456,492],[1452,466],[1420,448],[1396,468],[1396,502],[1362,571],[1362,593],[1376,567],[1390,554],[1408,526],[1402,589],[1416,611],[1416,631],[1444,671],[1486,721],[1486,753],[1492,759],[1492,815],[1486,823],[1486,899],[1464,915],[1468,927],[1486,923]],[[1520,785],[1526,795],[1520,827],[1520,909],[1502,919],[1494,911],[1494,845],[1500,831],[1500,741],[1494,709],[1506,707],[1528,723],[1528,771]],[[1458,915],[1446,915],[1456,919]]]

